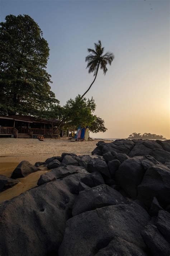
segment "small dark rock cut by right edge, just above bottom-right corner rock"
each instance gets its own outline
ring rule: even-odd
[[[167,242],[170,243],[170,214],[167,211],[160,210],[155,225]]]

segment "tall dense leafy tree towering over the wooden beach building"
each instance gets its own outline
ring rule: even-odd
[[[33,114],[58,103],[46,71],[49,47],[29,15],[0,23],[0,114]]]

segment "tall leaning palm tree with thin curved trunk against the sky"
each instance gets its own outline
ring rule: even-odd
[[[107,51],[107,53],[103,54],[104,52],[104,47],[101,47],[101,41],[98,41],[98,44],[95,45],[95,50],[94,49],[88,49],[88,52],[90,53],[86,57],[86,61],[88,62],[87,67],[89,68],[89,73],[94,73],[94,80],[89,86],[88,90],[81,96],[81,98],[84,97],[84,95],[90,90],[91,86],[93,85],[94,81],[96,80],[96,76],[98,74],[99,68],[103,70],[104,75],[107,72],[107,64],[112,63],[112,60],[114,59],[114,54],[111,53],[110,51]]]

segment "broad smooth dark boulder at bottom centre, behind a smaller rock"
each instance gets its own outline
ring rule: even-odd
[[[117,236],[145,250],[140,231],[149,220],[147,212],[134,203],[83,212],[67,221],[58,256],[95,255]]]

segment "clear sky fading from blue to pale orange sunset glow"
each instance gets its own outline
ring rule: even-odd
[[[170,2],[166,0],[0,0],[0,20],[28,14],[43,31],[52,91],[64,105],[93,81],[87,48],[101,40],[115,58],[86,96],[108,130],[94,138],[154,133],[170,139]]]

